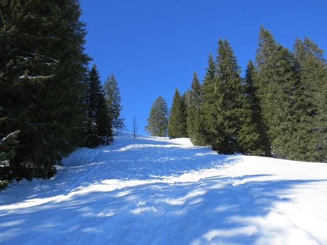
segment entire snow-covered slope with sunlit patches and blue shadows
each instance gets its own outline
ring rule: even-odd
[[[0,193],[1,244],[327,244],[327,164],[122,133]]]

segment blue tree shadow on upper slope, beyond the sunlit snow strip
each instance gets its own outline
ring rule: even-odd
[[[219,155],[208,147],[180,148],[169,142],[164,142],[164,145],[159,142],[156,145],[154,144],[158,143],[156,140],[144,140],[147,144],[143,143],[143,146],[140,146],[142,151],[139,151],[138,144],[119,146],[116,150],[112,150],[114,145],[87,149],[85,155],[97,157],[92,158],[88,163],[76,162],[73,166],[58,166],[58,174],[50,180],[34,179],[32,182],[21,181],[12,184],[14,188],[2,193],[11,198],[0,200],[0,205],[10,205],[35,198],[50,198],[90,185],[101,184],[106,180],[161,180],[167,177],[179,177],[193,171],[221,168],[238,161],[237,155]],[[166,145],[169,147],[165,147]],[[77,152],[71,157],[74,158],[76,155],[82,153]],[[81,158],[85,159],[87,156]]]

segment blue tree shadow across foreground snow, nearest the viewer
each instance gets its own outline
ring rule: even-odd
[[[0,241],[254,244],[263,235],[256,224],[269,223],[267,215],[277,203],[291,202],[285,197],[297,188],[327,182],[267,180],[269,177],[216,176],[193,183],[136,182],[121,189],[76,194],[11,212],[1,210]],[[278,230],[281,228],[275,227],[273,232],[283,232]]]

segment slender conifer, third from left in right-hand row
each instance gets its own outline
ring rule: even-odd
[[[194,145],[205,145],[203,138],[203,120],[201,105],[203,102],[203,94],[197,74],[194,71],[191,90],[189,90],[189,105],[187,107],[187,130],[189,138]]]

